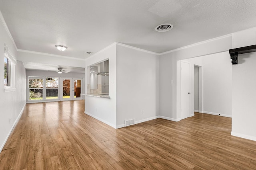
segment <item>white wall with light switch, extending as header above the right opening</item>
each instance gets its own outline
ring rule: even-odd
[[[177,107],[180,94],[177,92],[177,61],[192,57],[220,53],[232,48],[232,36],[226,35],[188,47],[176,49],[160,55],[160,116],[178,121],[180,113]],[[173,84],[171,84],[173,80]]]

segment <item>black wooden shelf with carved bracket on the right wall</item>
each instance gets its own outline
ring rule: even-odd
[[[231,63],[233,65],[238,64],[238,54],[245,54],[245,53],[252,53],[252,52],[256,52],[256,45],[230,49],[229,55],[230,55],[230,58],[232,59]]]

